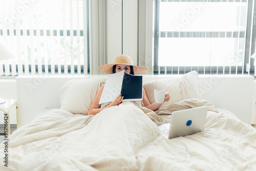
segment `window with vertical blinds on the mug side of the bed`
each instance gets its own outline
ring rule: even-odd
[[[244,73],[247,16],[245,0],[156,1],[154,73]]]

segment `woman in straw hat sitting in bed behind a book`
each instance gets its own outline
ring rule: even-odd
[[[148,70],[148,68],[134,66],[133,60],[130,56],[119,55],[114,58],[114,62],[112,64],[106,64],[106,65],[100,66],[98,68],[98,70],[103,71],[104,73],[107,73],[107,74],[114,74],[114,73],[120,72],[122,70],[125,70],[126,73],[134,75],[134,74],[142,74],[142,73],[146,72]],[[100,87],[99,91],[97,92],[97,94],[90,106],[88,115],[96,115],[103,109],[110,108],[111,106],[119,105],[122,102],[123,97],[119,94],[116,97],[116,99],[114,101],[112,101],[109,105],[107,105],[103,108],[100,108],[101,104],[99,104],[99,99],[102,94],[103,88],[104,88],[104,85],[102,85]],[[164,102],[169,101],[169,99],[170,99],[169,93],[165,93]],[[144,88],[143,88],[142,101],[143,101],[144,106],[148,109],[151,109],[152,111],[156,111],[163,104],[163,103],[156,103],[156,102],[151,104],[150,101],[148,100],[148,97],[146,95],[146,91],[144,90]]]

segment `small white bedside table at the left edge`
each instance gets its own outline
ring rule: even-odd
[[[14,99],[5,99],[6,102],[0,104],[0,111],[4,112],[4,133],[8,134],[8,137],[11,134],[11,129],[10,129],[10,109],[12,106],[16,106],[16,120],[17,120],[17,129],[19,128],[19,107],[18,107],[18,102]],[[0,114],[1,115],[1,114]],[[3,115],[1,115],[3,116]],[[6,130],[7,128],[7,130]],[[5,135],[6,136],[6,135]]]

